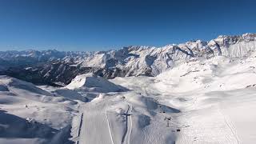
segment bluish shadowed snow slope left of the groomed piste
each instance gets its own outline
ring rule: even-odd
[[[77,103],[0,76],[0,143],[69,143]]]

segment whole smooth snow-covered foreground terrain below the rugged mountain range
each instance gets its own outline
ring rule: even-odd
[[[256,53],[156,77],[78,75],[64,87],[0,77],[0,143],[253,144]]]

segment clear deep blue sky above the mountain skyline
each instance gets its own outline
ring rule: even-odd
[[[0,50],[110,50],[256,32],[254,0],[0,0]]]

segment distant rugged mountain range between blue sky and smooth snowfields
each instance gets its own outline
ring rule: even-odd
[[[256,50],[256,34],[219,36],[162,47],[129,46],[99,52],[26,50],[0,52],[0,74],[34,83],[68,84],[78,74],[104,78],[156,76],[182,62],[222,55],[242,58]]]

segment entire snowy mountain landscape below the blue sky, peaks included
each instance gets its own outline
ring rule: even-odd
[[[0,144],[254,144],[256,34],[0,51]]]

